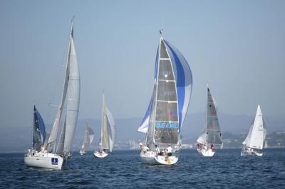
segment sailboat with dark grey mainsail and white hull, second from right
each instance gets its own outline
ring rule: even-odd
[[[206,128],[197,139],[197,151],[203,156],[214,156],[214,145],[222,146],[222,132],[219,129],[216,103],[207,87]]]

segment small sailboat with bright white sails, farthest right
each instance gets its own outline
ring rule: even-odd
[[[241,151],[241,156],[256,155],[262,156],[259,150],[263,148],[264,139],[266,136],[266,124],[262,117],[261,108],[258,105],[257,114],[249,128],[247,138],[242,142],[244,145]]]

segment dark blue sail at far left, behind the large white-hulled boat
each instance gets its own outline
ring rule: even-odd
[[[33,149],[36,151],[41,151],[41,146],[43,146],[46,141],[46,126],[43,122],[41,114],[33,106]]]

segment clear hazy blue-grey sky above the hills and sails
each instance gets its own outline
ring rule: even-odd
[[[283,115],[285,1],[0,1],[0,120],[28,126],[33,100],[49,124],[63,87],[68,34],[81,73],[79,119],[142,117],[152,92],[160,28],[193,75],[188,113],[206,84],[220,112]],[[56,84],[57,83],[57,84]]]

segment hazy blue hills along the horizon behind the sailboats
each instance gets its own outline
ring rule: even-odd
[[[246,134],[252,122],[253,116],[234,115],[219,113],[219,124],[222,129],[223,138],[227,134]],[[128,146],[137,143],[138,140],[144,140],[144,134],[137,131],[141,118],[115,119],[117,126],[117,144],[120,146]],[[96,148],[100,139],[100,123],[98,119],[79,119],[76,127],[76,135],[74,139],[73,150],[78,150],[83,142],[84,129],[86,121],[95,131],[95,143],[91,144],[91,148]],[[281,116],[265,117],[268,133],[276,131],[285,131],[284,118]],[[199,134],[202,133],[205,124],[204,112],[190,114],[185,119],[182,126],[182,142],[193,143]],[[51,131],[51,125],[47,126]],[[24,151],[31,147],[31,126],[13,126],[2,128],[0,132],[0,152],[4,151]],[[240,141],[239,141],[240,142]],[[118,147],[118,145],[117,145]]]

